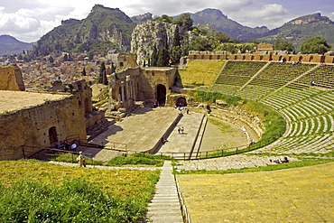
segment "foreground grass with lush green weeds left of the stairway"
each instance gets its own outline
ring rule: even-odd
[[[0,162],[1,222],[141,222],[160,171]]]

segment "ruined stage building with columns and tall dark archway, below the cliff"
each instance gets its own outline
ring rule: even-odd
[[[174,84],[175,68],[139,68],[134,54],[120,53],[117,70],[109,79],[109,103],[112,109],[131,107],[135,101],[163,106]]]

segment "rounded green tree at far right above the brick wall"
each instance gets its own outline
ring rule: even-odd
[[[312,37],[301,44],[302,53],[319,53],[323,54],[330,50],[330,45],[325,38],[320,36]]]

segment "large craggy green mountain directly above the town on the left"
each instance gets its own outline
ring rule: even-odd
[[[37,42],[36,55],[58,51],[128,51],[134,28],[135,23],[118,8],[94,5],[87,18],[62,21],[43,35]]]

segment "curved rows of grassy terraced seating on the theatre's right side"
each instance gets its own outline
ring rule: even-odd
[[[253,153],[333,151],[334,65],[228,60],[226,66],[209,90],[259,101],[287,121],[281,139]]]

